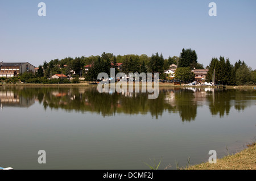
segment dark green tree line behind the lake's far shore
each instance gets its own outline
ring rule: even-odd
[[[113,53],[103,52],[101,56],[81,56],[65,57],[61,60],[55,59],[49,62],[44,61],[39,65],[34,77],[26,75],[25,81],[32,78],[49,79],[54,74],[64,74],[69,77],[85,77],[86,81],[96,81],[97,75],[101,72],[110,75],[110,68],[115,69],[115,74],[119,72],[118,63],[122,63],[123,73],[159,73],[160,79],[170,78],[164,74],[164,70],[170,68],[170,65],[177,65],[175,79],[182,82],[192,82],[195,74],[192,69],[205,69],[203,64],[197,61],[197,53],[192,49],[182,49],[179,57],[173,56],[164,58],[162,53],[156,52],[152,56],[135,54],[114,56]],[[85,65],[91,65],[88,72],[85,72]],[[246,65],[245,61],[238,60],[232,65],[229,58],[213,57],[210,64],[206,67],[209,69],[207,81],[213,81],[213,70],[215,70],[215,82],[222,85],[249,85],[256,83],[256,70],[252,70]],[[27,74],[27,73],[26,73]],[[21,76],[21,75],[20,75]],[[39,81],[40,82],[40,81]],[[41,81],[42,82],[42,81]]]

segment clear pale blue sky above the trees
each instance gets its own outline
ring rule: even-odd
[[[46,16],[38,16],[38,3]],[[217,16],[209,16],[210,2]],[[256,69],[255,0],[1,0],[0,60],[38,66],[55,58],[195,49],[209,65],[224,56]]]

